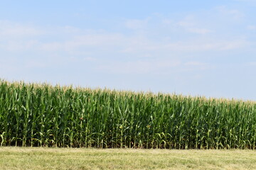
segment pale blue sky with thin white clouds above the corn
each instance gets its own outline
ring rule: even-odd
[[[256,0],[0,2],[0,79],[256,100]]]

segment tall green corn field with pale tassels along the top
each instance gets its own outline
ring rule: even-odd
[[[256,149],[256,102],[0,80],[0,143]]]

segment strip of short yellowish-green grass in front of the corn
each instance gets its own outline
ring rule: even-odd
[[[253,150],[0,147],[0,169],[256,169]]]

